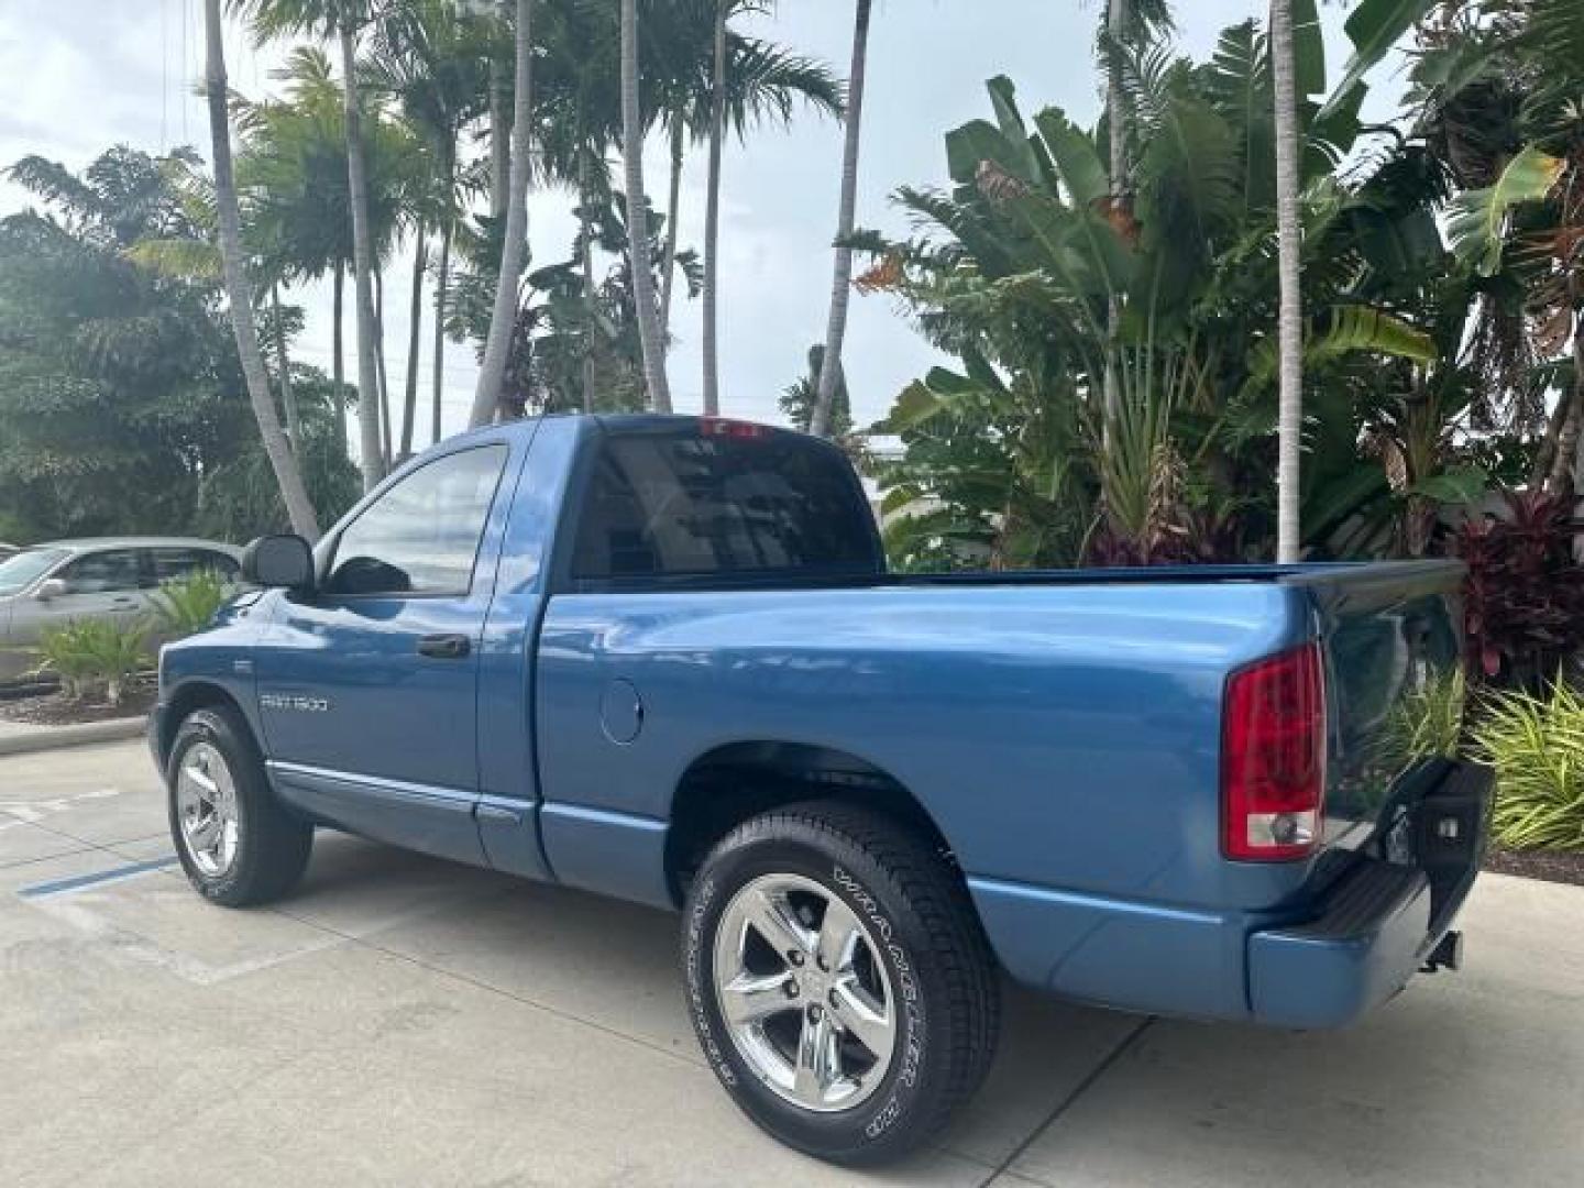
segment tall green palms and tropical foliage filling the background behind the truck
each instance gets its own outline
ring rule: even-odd
[[[673,306],[702,296],[703,388],[718,409],[722,139],[803,112],[843,117],[841,227],[857,217],[866,43],[884,17],[871,8],[843,6],[854,17],[843,81],[744,33],[744,16],[767,27],[773,5],[757,0],[227,3],[284,60],[274,93],[225,97],[242,276],[230,298],[217,187],[195,154],[117,149],[81,177],[36,158],[14,166],[40,211],[0,230],[8,531],[280,524],[282,459],[250,444],[271,439],[274,413],[328,521],[355,491],[348,412],[364,483],[439,437],[442,336],[483,356],[496,331],[499,379],[491,371],[480,390],[489,417],[662,407]],[[1096,8],[1098,122],[1025,111],[1011,79],[992,79],[985,119],[946,136],[946,184],[897,192],[911,238],[860,230],[835,244],[827,342],[784,413],[878,467],[898,565],[1275,551],[1278,388],[1294,353],[1278,336],[1285,71],[1259,21],[1194,60],[1174,43],[1171,5]],[[1584,451],[1584,10],[1357,0],[1345,19],[1353,55],[1327,70],[1324,10],[1281,8],[1302,230],[1305,556],[1467,558],[1475,675],[1533,684],[1576,643],[1562,624],[1576,546],[1565,508]],[[1402,111],[1365,125],[1369,79],[1394,48],[1408,54]],[[521,95],[518,49],[531,67]],[[657,193],[632,184],[646,141],[668,149]],[[680,242],[678,206],[703,144],[700,255]],[[540,241],[513,282],[507,249],[521,227],[508,234],[507,215],[529,187],[564,193],[575,228],[564,250]],[[908,385],[876,432],[851,423],[849,250],[866,269],[851,288],[895,301],[950,360]],[[399,287],[388,284],[398,260],[412,265]],[[291,358],[293,299],[322,277],[336,293],[328,379]],[[393,383],[386,361],[402,344],[382,326],[396,291],[412,315]],[[250,352],[228,334],[242,306],[261,356],[250,374],[269,390],[261,404],[255,393],[257,429],[242,399]],[[1511,543],[1538,540],[1522,526],[1535,501],[1555,512],[1544,580],[1521,573],[1535,565]]]

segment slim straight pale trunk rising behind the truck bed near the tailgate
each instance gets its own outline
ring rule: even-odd
[[[1296,562],[1304,535],[1299,523],[1299,466],[1304,432],[1304,295],[1299,287],[1297,78],[1293,57],[1293,0],[1270,2],[1270,57],[1275,79],[1277,244],[1281,307],[1280,402],[1277,413],[1277,561]]]

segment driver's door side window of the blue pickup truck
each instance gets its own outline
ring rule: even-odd
[[[402,478],[342,531],[326,589],[466,594],[508,453],[505,445],[485,445]]]

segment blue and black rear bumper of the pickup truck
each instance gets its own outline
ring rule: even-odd
[[[1327,890],[1313,919],[1250,933],[1248,1004],[1255,1020],[1346,1026],[1402,990],[1473,889],[1491,786],[1489,770],[1446,763],[1438,786],[1413,813],[1418,865],[1361,860]],[[1443,836],[1443,825],[1456,836]]]

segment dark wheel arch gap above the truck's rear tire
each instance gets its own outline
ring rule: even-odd
[[[808,800],[855,805],[923,836],[961,878],[952,847],[919,797],[882,765],[844,748],[740,740],[705,751],[676,781],[665,833],[665,878],[681,903],[699,865],[737,825]]]

